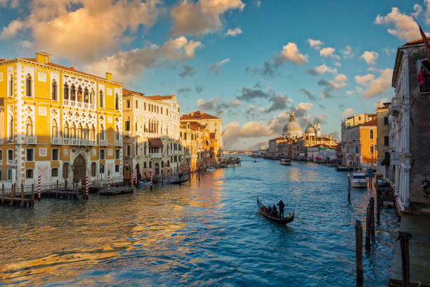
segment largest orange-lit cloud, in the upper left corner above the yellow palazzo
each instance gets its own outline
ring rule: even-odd
[[[30,30],[32,49],[49,51],[78,63],[88,63],[112,54],[120,44],[130,42],[138,27],[150,27],[160,11],[159,0],[145,2],[81,0],[34,0],[30,15],[3,27],[0,38],[19,36]],[[124,34],[127,34],[126,36]]]

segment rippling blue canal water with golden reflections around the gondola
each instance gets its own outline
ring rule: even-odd
[[[297,218],[258,214],[256,196]],[[311,162],[243,157],[181,186],[0,206],[0,286],[354,286],[356,219],[374,191]],[[382,209],[365,286],[386,286],[398,223]],[[365,226],[363,226],[363,231]]]

